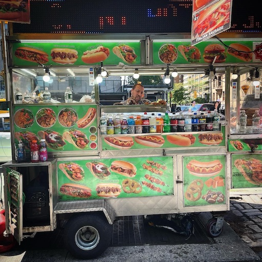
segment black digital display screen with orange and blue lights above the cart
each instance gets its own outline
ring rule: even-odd
[[[226,32],[261,32],[257,1],[233,0]],[[252,8],[251,8],[252,7]],[[13,23],[13,33],[190,33],[192,0],[31,0],[30,24]]]

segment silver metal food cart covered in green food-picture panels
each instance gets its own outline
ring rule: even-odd
[[[209,40],[199,45],[201,52],[210,41],[213,42]],[[223,215],[220,212],[229,210],[231,187],[260,186],[258,183],[250,185],[249,182],[238,184],[242,173],[235,171],[236,159],[260,161],[261,148],[260,145],[252,147],[252,150],[251,147],[243,147],[241,156],[238,149],[230,148],[231,140],[242,139],[237,130],[231,134],[229,105],[234,106],[235,111],[231,113],[235,112],[236,119],[239,119],[240,90],[234,93],[232,89],[230,64],[224,68],[226,92],[229,94],[226,98],[227,120],[221,123],[219,131],[101,135],[99,119],[102,113],[107,117],[116,114],[136,117],[143,116],[144,112],[148,115],[164,114],[166,106],[158,103],[100,105],[101,86],[96,81],[93,102],[15,104],[14,92],[17,87],[23,88],[20,83],[30,86],[31,91],[35,89],[35,82],[21,69],[39,70],[39,63],[15,56],[17,49],[29,47],[45,51],[50,61],[44,64],[44,69],[49,67],[59,71],[66,67],[77,71],[77,67],[83,65],[80,59],[71,65],[55,64],[51,60],[51,50],[72,48],[81,54],[86,49],[106,45],[106,41],[96,39],[84,43],[71,39],[39,42],[21,36],[7,39],[13,160],[3,165],[5,209],[8,214],[6,234],[13,234],[20,243],[23,233],[53,231],[60,220],[68,220],[64,230],[65,245],[76,257],[92,258],[110,244],[112,224],[117,216],[214,212],[206,229],[211,236],[219,236],[223,230]],[[137,54],[135,67],[140,65],[140,69],[145,71],[149,68],[155,70],[152,64],[161,63],[158,50],[162,46],[170,42],[174,46],[188,44],[185,39],[140,36],[133,41],[113,39],[107,43],[108,49],[112,51],[120,42],[133,47]],[[249,45],[252,45],[251,42]],[[148,45],[150,48],[145,48]],[[147,61],[148,55],[150,61]],[[182,59],[183,56],[179,56],[181,63]],[[114,69],[117,62],[122,61],[119,57],[112,60],[108,57],[106,69],[111,66]],[[43,70],[42,65],[40,63],[40,70]],[[99,65],[93,64],[89,77],[97,75]],[[193,64],[193,69],[192,64],[183,66],[191,70],[195,66],[209,67],[205,63]],[[176,68],[179,69],[179,64]],[[122,70],[119,69],[120,72]],[[237,84],[239,82],[236,81],[233,86]],[[81,134],[88,141],[86,145],[77,146],[71,139],[74,133]],[[260,136],[249,134],[247,139]],[[39,141],[40,138],[45,138],[48,143],[48,161],[31,163],[31,140]],[[141,144],[139,139],[144,143]],[[19,140],[23,140],[27,147],[27,160],[20,163],[15,160],[15,146]],[[157,143],[146,144],[146,140]]]

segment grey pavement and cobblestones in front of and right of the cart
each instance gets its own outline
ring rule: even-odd
[[[154,245],[109,247],[92,262],[214,262],[261,261],[262,254],[262,194],[234,194],[230,211],[224,217],[223,232],[211,244]],[[212,217],[199,213],[205,224]],[[0,262],[79,262],[67,250],[10,250],[0,254]]]

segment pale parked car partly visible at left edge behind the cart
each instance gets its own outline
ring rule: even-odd
[[[12,160],[10,116],[9,113],[0,114],[0,163]]]

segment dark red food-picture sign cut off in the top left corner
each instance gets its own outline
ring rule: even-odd
[[[14,20],[20,18],[24,12],[27,12],[25,1],[0,1],[0,20]]]

